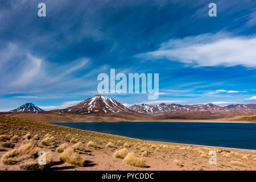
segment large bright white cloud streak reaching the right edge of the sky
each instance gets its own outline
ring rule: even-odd
[[[168,59],[195,66],[256,67],[256,37],[232,37],[227,33],[202,34],[171,39],[152,52],[135,57]]]

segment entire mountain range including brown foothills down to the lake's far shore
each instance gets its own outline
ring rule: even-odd
[[[11,110],[10,115],[38,121],[156,121],[163,119],[217,119],[251,115],[256,104],[217,106],[214,104],[179,105],[137,104],[129,108],[113,98],[94,96],[66,109],[43,111],[32,103]],[[5,113],[2,113],[5,114]]]

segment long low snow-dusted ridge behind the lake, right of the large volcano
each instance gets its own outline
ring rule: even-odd
[[[198,105],[177,105],[177,104],[159,104],[159,105],[147,105],[139,104],[132,105],[129,109],[137,111],[138,113],[145,114],[161,114],[161,113],[191,113],[191,112],[202,112],[210,111],[211,113],[256,113],[255,104],[237,104],[228,106],[217,106],[212,103],[209,104],[198,104]]]

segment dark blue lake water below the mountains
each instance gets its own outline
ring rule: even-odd
[[[145,140],[256,150],[255,123],[92,122],[53,124]]]

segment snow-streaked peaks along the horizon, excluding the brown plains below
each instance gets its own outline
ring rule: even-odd
[[[24,104],[11,112],[19,111],[44,111],[32,103]],[[56,111],[56,110],[55,110]],[[147,105],[138,104],[132,105],[129,108],[120,104],[113,98],[106,96],[94,96],[88,98],[79,104],[66,109],[58,110],[60,112],[73,114],[110,114],[110,113],[144,113],[144,114],[163,114],[163,113],[192,113],[210,111],[211,113],[256,113],[256,104],[236,104],[228,106],[217,106],[212,103],[197,104],[197,105],[179,105],[179,104],[159,104]]]

